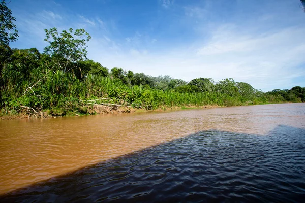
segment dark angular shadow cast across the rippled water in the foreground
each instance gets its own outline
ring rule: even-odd
[[[0,196],[3,202],[302,202],[305,129],[200,131]]]

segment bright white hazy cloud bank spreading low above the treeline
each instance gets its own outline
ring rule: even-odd
[[[241,34],[239,29],[221,25],[205,43],[199,40],[194,43],[197,46],[172,47],[162,53],[143,54],[139,49],[125,51],[120,47],[115,55],[100,52],[100,56],[104,55],[100,62],[108,67],[123,67],[153,76],[170,75],[187,81],[198,77],[216,81],[234,78],[263,90],[289,88],[294,78],[305,78],[304,69],[294,68],[305,63],[302,41],[305,28],[289,27],[260,35]]]

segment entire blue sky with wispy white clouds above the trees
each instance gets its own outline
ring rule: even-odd
[[[89,59],[151,76],[233,78],[263,91],[305,87],[299,0],[11,0],[12,48],[41,52],[45,31],[84,28]]]

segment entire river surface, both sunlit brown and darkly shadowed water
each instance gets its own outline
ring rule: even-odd
[[[0,201],[301,201],[305,103],[0,120]]]

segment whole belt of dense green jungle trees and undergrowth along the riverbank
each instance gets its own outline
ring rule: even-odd
[[[27,113],[79,115],[186,106],[237,106],[305,101],[305,88],[262,92],[232,78],[214,82],[196,78],[190,82],[170,76],[147,76],[114,67],[108,70],[86,58],[84,29],[58,33],[45,29],[49,43],[44,52],[36,48],[11,49],[18,31],[5,1],[0,25],[1,115]]]

